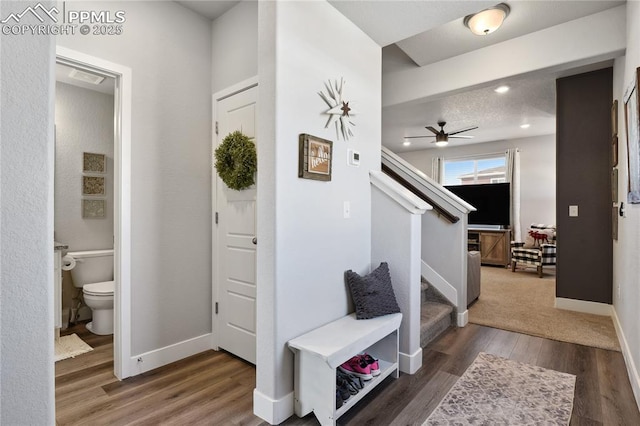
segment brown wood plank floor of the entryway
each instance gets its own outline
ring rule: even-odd
[[[94,351],[56,363],[58,425],[267,425],[253,415],[255,369],[207,351],[118,381],[110,336],[75,332]],[[571,425],[639,425],[624,360],[612,352],[469,324],[427,346],[414,375],[387,379],[339,425],[421,425],[479,352],[575,374]],[[284,425],[317,425],[313,414]]]

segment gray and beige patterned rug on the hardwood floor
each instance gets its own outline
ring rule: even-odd
[[[423,426],[568,425],[576,376],[481,352]]]

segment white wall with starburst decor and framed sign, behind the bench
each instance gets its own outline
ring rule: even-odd
[[[258,369],[254,411],[293,413],[286,342],[349,312],[344,271],[369,272],[369,170],[380,169],[381,49],[326,2],[259,3]],[[318,96],[344,77],[355,137],[325,129]],[[331,182],[300,179],[298,135],[334,141]],[[360,151],[347,166],[347,148]],[[343,218],[343,203],[351,218]]]

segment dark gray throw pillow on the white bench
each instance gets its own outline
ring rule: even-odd
[[[391,285],[387,262],[382,262],[365,276],[348,270],[345,272],[345,279],[349,285],[353,303],[356,305],[357,319],[369,319],[400,312]]]

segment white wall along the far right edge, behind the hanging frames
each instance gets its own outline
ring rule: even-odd
[[[618,194],[624,202],[625,217],[618,218],[618,241],[613,242],[613,305],[622,346],[636,401],[640,404],[640,205],[628,204],[627,138],[623,94],[636,78],[640,67],[640,3],[627,2],[626,58],[614,64],[613,97],[618,100]],[[636,90],[638,90],[636,88]],[[618,293],[618,290],[619,293]]]

